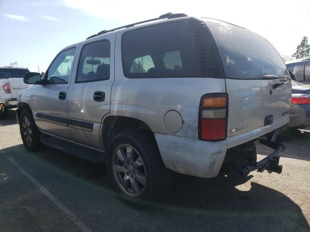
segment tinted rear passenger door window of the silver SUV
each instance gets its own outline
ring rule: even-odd
[[[110,42],[108,40],[86,44],[78,62],[77,82],[110,79]]]

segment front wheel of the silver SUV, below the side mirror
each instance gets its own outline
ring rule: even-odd
[[[29,151],[37,151],[42,147],[41,132],[37,128],[30,110],[22,110],[19,116],[19,130],[24,146]]]

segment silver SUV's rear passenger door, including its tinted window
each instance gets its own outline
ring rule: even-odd
[[[114,82],[115,34],[80,46],[68,94],[68,126],[74,142],[101,150],[100,128],[109,114]]]

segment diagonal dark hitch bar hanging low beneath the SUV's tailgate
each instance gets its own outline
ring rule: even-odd
[[[279,153],[285,150],[285,146],[282,144],[279,144],[279,146],[275,149],[273,153],[271,153],[269,156],[263,158],[263,160],[257,162],[256,166],[246,166],[241,168],[239,173],[241,176],[248,176],[248,174],[252,171],[258,170],[258,172],[263,172],[264,170],[267,170],[269,173],[275,172],[278,174],[281,174],[282,172],[282,165],[279,165]]]

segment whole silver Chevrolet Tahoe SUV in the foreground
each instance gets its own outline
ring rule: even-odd
[[[25,147],[105,162],[126,200],[161,198],[172,171],[281,172],[291,78],[248,29],[168,13],[72,44],[24,82],[33,84],[17,97]],[[255,140],[275,151],[256,161]]]

